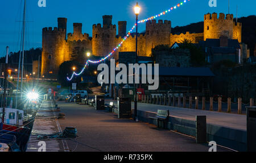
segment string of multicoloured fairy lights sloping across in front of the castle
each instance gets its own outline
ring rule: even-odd
[[[138,23],[144,23],[144,22],[147,22],[147,21],[149,21],[149,20],[156,19],[156,18],[158,18],[158,17],[160,17],[160,16],[166,15],[168,12],[171,12],[172,10],[177,9],[178,7],[182,6],[182,5],[183,5],[184,3],[186,3],[187,1],[190,1],[190,0],[184,0],[183,2],[178,3],[177,5],[171,7],[171,8],[168,9],[168,10],[165,10],[165,11],[163,11],[163,12],[160,12],[160,13],[157,14],[157,15],[151,16],[151,17],[149,17],[149,18],[147,18],[147,19],[139,20]],[[137,26],[137,24],[135,23],[134,26],[131,28],[131,30],[129,30],[129,32],[127,33],[127,35],[126,35],[125,37],[123,37],[121,43],[119,43],[119,44],[117,45],[117,47],[115,47],[115,48],[113,49],[113,51],[109,53],[109,55],[107,55],[107,56],[105,56],[104,58],[101,58],[100,60],[97,60],[97,61],[87,60],[86,63],[85,63],[85,65],[84,65],[84,67],[83,67],[82,70],[80,71],[80,73],[76,73],[76,72],[74,71],[73,74],[72,74],[72,76],[71,76],[71,78],[68,78],[68,77],[67,77],[68,81],[71,81],[74,76],[80,76],[80,75],[84,72],[85,68],[88,66],[89,62],[90,62],[90,63],[93,63],[93,64],[97,64],[97,63],[99,63],[99,62],[102,62],[102,61],[106,60],[106,59],[109,58],[110,56],[112,56],[113,53],[114,53],[115,51],[117,51],[117,49],[118,49],[119,47],[122,46],[123,42],[128,39],[128,37],[131,35],[131,32],[135,29],[136,26]]]

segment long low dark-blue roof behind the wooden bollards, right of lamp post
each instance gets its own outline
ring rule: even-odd
[[[154,74],[154,67],[152,74]],[[214,77],[214,74],[209,68],[159,67],[159,76]]]

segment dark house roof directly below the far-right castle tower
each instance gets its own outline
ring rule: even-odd
[[[201,47],[220,47],[220,39],[206,39],[206,41],[199,41]],[[241,48],[238,40],[228,39],[228,47]]]

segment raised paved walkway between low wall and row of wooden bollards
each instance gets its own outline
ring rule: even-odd
[[[113,100],[105,99],[105,103],[109,103],[110,101]],[[114,104],[117,107],[117,101],[114,101]],[[131,107],[134,108],[133,102]],[[189,120],[196,120],[196,115],[206,115],[207,123],[246,131],[246,115],[207,110],[196,110],[192,108],[152,105],[148,103],[138,103],[138,110],[157,112],[158,109],[169,110],[170,115]]]

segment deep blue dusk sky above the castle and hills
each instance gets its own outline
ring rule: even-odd
[[[188,1],[188,0],[187,0]],[[182,7],[162,16],[159,19],[172,21],[172,27],[184,26],[203,21],[208,12],[228,13],[228,0],[216,0],[217,7],[209,7],[209,0],[190,0]],[[102,15],[113,15],[113,24],[120,20],[127,21],[127,30],[135,23],[133,7],[136,0],[46,0],[46,7],[38,7],[38,0],[27,0],[27,26],[25,49],[42,46],[42,28],[57,27],[57,18],[68,18],[67,32],[73,32],[73,23],[82,23],[82,32],[92,36],[92,25],[102,23]],[[142,7],[139,19],[158,14],[182,2],[181,0],[140,0]],[[10,51],[19,51],[22,12],[24,0],[5,0],[0,5],[0,56],[5,55],[6,46]],[[236,17],[255,15],[255,0],[230,0],[230,13]],[[139,31],[144,31],[145,25],[139,25]],[[118,31],[117,31],[118,32]]]

